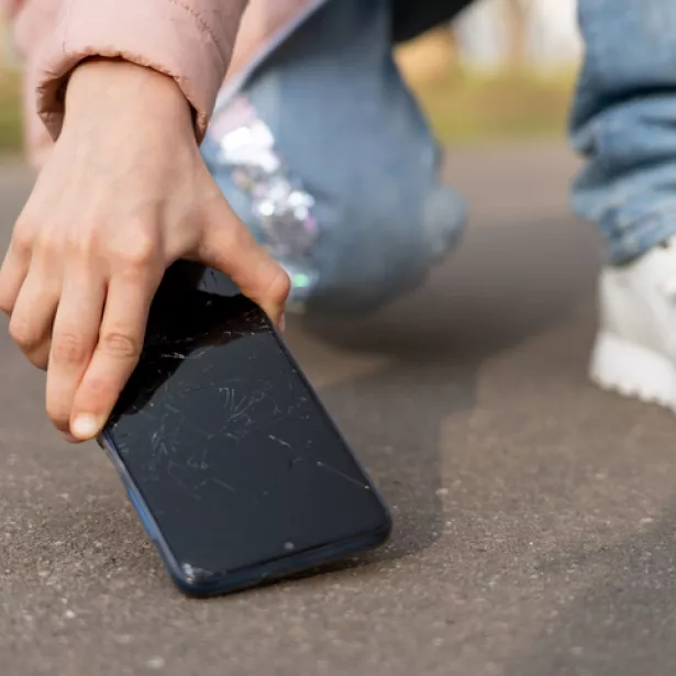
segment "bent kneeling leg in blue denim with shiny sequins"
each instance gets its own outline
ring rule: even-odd
[[[309,311],[377,308],[419,285],[461,231],[463,204],[441,181],[439,145],[397,71],[391,44],[390,0],[336,0],[244,85],[239,96],[250,128],[230,138],[248,143],[257,129],[256,162],[281,176],[281,188],[276,177],[250,180],[251,146],[237,148],[240,166],[219,159],[228,143],[219,130],[236,99],[215,111],[202,147],[235,211],[288,270],[298,269],[297,258],[285,261],[285,250],[297,253],[298,229],[267,218],[284,211],[273,192],[288,196],[296,186],[311,198],[303,197],[301,212],[311,211],[318,235],[301,239],[313,269],[298,275],[302,284],[292,291]]]

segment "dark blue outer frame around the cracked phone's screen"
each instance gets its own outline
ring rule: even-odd
[[[263,310],[261,312],[265,315]],[[267,319],[267,317],[266,317]],[[269,322],[269,319],[268,319]],[[196,598],[207,598],[211,596],[218,596],[221,594],[230,594],[242,589],[256,587],[266,583],[279,580],[290,575],[302,573],[319,566],[324,566],[329,563],[350,556],[357,552],[373,550],[384,544],[390,536],[392,531],[392,518],[385,500],[380,492],[374,485],[368,473],[352,451],[352,447],[345,441],[345,437],[341,433],[340,429],[326,411],[314,387],[310,384],[307,376],[300,368],[298,362],[290,353],[289,348],[285,344],[284,340],[275,329],[271,322],[269,322],[269,332],[274,340],[277,342],[284,356],[289,361],[291,367],[296,373],[296,377],[299,377],[307,389],[308,396],[314,402],[315,408],[319,410],[326,422],[333,428],[334,434],[339,441],[343,444],[345,451],[350,453],[356,463],[359,472],[364,475],[370,491],[379,502],[383,510],[383,523],[370,532],[365,532],[353,538],[325,544],[309,550],[303,550],[297,553],[288,553],[286,555],[275,557],[271,559],[263,561],[258,564],[246,568],[235,568],[233,570],[224,570],[218,573],[201,572],[193,577],[186,575],[181,567],[180,562],[174,554],[169,543],[162,533],[157,521],[153,517],[148,503],[143,497],[143,494],[134,479],[132,478],[126,465],[124,464],[119,450],[110,435],[107,428],[98,436],[97,443],[106,452],[109,459],[118,470],[122,485],[126,489],[129,499],[134,507],[141,523],[152,543],[155,545],[164,566],[169,576],[176,584],[176,586],[186,595]],[[143,357],[142,357],[143,358]]]

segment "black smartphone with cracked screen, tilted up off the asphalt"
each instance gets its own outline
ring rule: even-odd
[[[165,277],[99,440],[174,580],[211,596],[381,544],[389,512],[270,321],[196,269]]]

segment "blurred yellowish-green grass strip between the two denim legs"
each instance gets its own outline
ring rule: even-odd
[[[444,143],[563,137],[575,78],[448,73],[410,80]]]

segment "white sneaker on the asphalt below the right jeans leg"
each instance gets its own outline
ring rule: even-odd
[[[591,379],[676,412],[676,237],[635,263],[605,268],[599,312]]]

